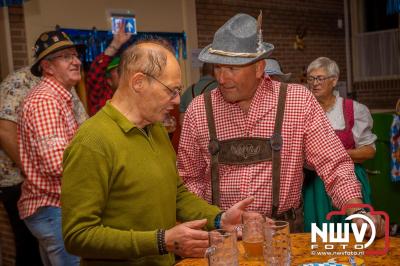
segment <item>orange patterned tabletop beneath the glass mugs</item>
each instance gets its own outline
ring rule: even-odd
[[[300,265],[302,263],[310,262],[326,262],[328,259],[335,256],[316,256],[311,255],[310,247],[310,233],[300,233],[291,234],[291,245],[292,245],[292,265]],[[370,246],[373,249],[383,249],[384,240],[378,239]],[[243,258],[243,246],[239,242],[240,258],[239,264],[241,266],[264,266],[263,262],[257,261],[246,261]],[[346,259],[347,257],[338,257],[340,259]],[[364,260],[366,266],[376,265],[390,265],[390,266],[400,266],[400,238],[391,237],[390,238],[390,249],[389,252],[384,256],[360,256]],[[341,262],[341,261],[339,261]],[[197,259],[184,259],[176,264],[177,266],[206,266],[207,260],[203,258]]]

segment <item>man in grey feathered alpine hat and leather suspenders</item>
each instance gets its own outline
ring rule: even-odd
[[[317,169],[339,209],[362,202],[360,184],[313,95],[264,74],[274,46],[263,42],[261,22],[261,15],[237,14],[201,51],[199,59],[214,64],[218,87],[187,109],[178,170],[189,190],[221,209],[252,195],[249,210],[287,220],[298,232],[304,161]],[[370,216],[382,236],[383,220]]]

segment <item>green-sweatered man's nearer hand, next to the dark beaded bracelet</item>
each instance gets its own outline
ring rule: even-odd
[[[208,232],[201,229],[207,220],[179,224],[165,231],[167,250],[181,257],[204,257],[208,248]]]

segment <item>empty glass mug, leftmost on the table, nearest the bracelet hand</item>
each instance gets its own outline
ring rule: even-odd
[[[238,266],[239,250],[236,231],[217,229],[208,233],[206,258],[210,266]]]

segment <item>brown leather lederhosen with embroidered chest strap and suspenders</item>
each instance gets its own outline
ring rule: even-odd
[[[287,84],[281,83],[274,133],[270,138],[241,137],[219,141],[212,111],[211,92],[204,94],[206,116],[210,134],[208,150],[211,154],[212,203],[220,205],[218,164],[239,165],[272,160],[272,215],[271,218],[286,220],[292,232],[303,231],[302,207],[291,208],[278,215],[282,148],[282,123],[285,110]]]

